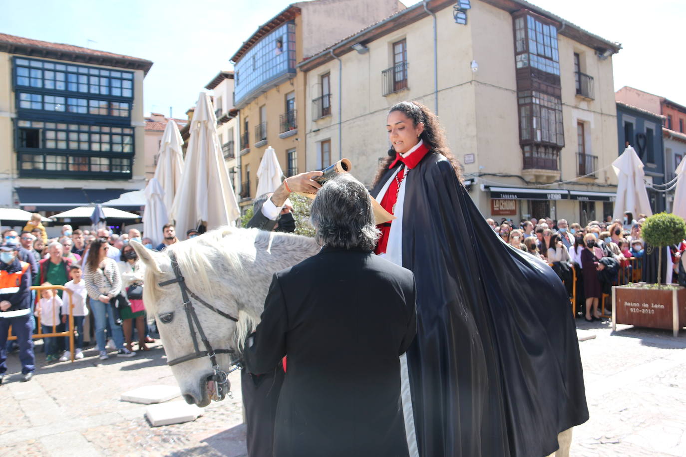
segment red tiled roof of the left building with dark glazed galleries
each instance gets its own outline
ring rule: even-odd
[[[97,51],[86,47],[66,45],[42,40],[33,40],[0,33],[0,51],[32,55],[35,57],[54,58],[57,60],[69,60],[122,68],[143,70],[147,73],[152,66],[150,60],[145,60],[130,55],[115,54],[107,51]]]

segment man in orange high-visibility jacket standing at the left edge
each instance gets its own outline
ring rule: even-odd
[[[0,245],[0,383],[7,371],[8,330],[19,343],[22,381],[29,381],[35,369],[31,328],[31,269],[16,258],[19,245],[4,241]]]

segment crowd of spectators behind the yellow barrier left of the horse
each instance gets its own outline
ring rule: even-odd
[[[156,250],[179,241],[174,225],[165,225],[161,235],[164,242]],[[187,238],[197,235],[197,231],[191,230]],[[2,232],[1,243],[16,252],[16,260],[29,264],[29,286],[64,286],[71,291],[74,358],[84,358],[85,347],[93,342],[101,360],[109,357],[108,351],[116,351],[118,357],[135,356],[134,331],[139,351],[147,351],[147,343],[155,341],[150,337],[145,319],[143,264],[130,240],[154,249],[152,240],[143,238],[134,228],[115,234],[106,228],[73,230],[65,224],[58,236],[49,238],[39,214],[34,214],[21,232],[11,229]],[[12,262],[0,263],[0,267],[10,268]],[[61,290],[30,291],[30,295],[29,325],[33,334],[68,330],[69,299]],[[71,358],[69,338],[49,336],[43,341],[48,363]],[[16,341],[0,341],[0,344],[6,352],[19,346]],[[27,370],[31,372],[33,368]]]

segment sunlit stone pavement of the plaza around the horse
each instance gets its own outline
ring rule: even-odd
[[[686,456],[686,331],[577,321],[595,339],[579,343],[591,419],[573,431],[572,456]],[[40,344],[39,344],[40,346]],[[246,455],[240,378],[233,398],[196,421],[152,428],[145,405],[119,395],[150,384],[176,385],[158,343],[134,358],[100,362],[97,351],[45,364],[19,382],[16,354],[0,386],[0,456]],[[110,354],[114,355],[114,354]]]

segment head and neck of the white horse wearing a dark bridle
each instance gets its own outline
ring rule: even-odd
[[[174,280],[170,254],[174,254],[189,290],[218,310],[236,317],[222,317],[190,301],[213,349],[241,351],[246,336],[259,323],[272,275],[317,254],[320,246],[312,238],[257,229],[222,227],[196,238],[170,245],[162,252],[131,242],[145,265],[143,301],[147,314],[155,317],[167,360],[195,352],[191,328],[178,283]],[[163,317],[161,319],[161,317]],[[200,350],[200,335],[196,329]],[[237,356],[217,354],[217,364],[227,371]],[[193,358],[171,367],[186,402],[207,406],[215,386],[209,357]]]

